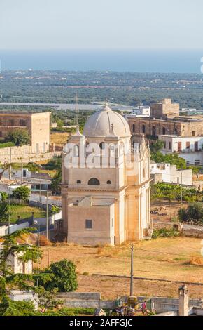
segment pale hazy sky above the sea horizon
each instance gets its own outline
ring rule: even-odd
[[[0,0],[0,49],[191,49],[202,32],[202,0]]]

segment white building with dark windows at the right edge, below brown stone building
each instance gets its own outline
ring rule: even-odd
[[[159,140],[165,143],[162,149],[164,154],[179,152],[188,165],[203,164],[203,136],[159,136]]]

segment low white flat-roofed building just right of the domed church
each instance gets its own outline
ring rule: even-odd
[[[176,183],[182,185],[193,185],[193,171],[190,169],[176,169],[176,165],[155,163],[150,164],[151,177],[155,183]]]

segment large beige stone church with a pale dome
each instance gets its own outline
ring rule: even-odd
[[[66,144],[62,223],[67,242],[121,244],[151,235],[149,149],[132,143],[126,119],[106,105]]]

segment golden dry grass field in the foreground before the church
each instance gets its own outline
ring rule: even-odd
[[[203,284],[202,247],[201,239],[187,237],[134,242],[134,276],[172,281],[135,279],[134,294],[176,296],[180,284],[175,281]],[[115,275],[130,275],[130,243],[115,247],[57,244],[42,249],[41,268],[48,265],[48,249],[50,262],[67,258],[76,263],[78,291],[101,291],[104,298],[115,298],[129,291],[129,279]],[[191,285],[190,296],[203,296],[203,285]]]

